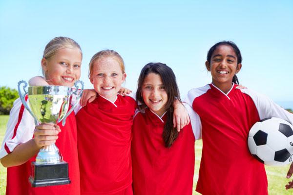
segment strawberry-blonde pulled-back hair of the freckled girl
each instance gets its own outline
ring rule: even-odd
[[[99,60],[101,60],[105,57],[111,57],[111,58],[117,60],[120,67],[121,67],[122,73],[125,73],[124,61],[123,61],[122,57],[120,56],[120,54],[117,51],[105,49],[105,50],[99,51],[98,53],[93,55],[93,57],[91,58],[91,60],[89,62],[89,71],[88,71],[88,78],[89,79],[91,78],[94,63],[99,62]]]

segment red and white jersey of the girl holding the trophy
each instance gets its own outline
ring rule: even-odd
[[[27,98],[26,98],[27,99]],[[74,112],[66,119],[65,127],[58,124],[61,132],[56,141],[56,146],[63,155],[63,160],[68,163],[70,184],[32,188],[28,177],[31,175],[31,162],[36,156],[26,163],[7,168],[6,195],[79,195],[80,179],[77,154],[77,129]],[[10,111],[7,130],[0,150],[0,158],[13,152],[14,148],[33,138],[35,130],[34,118],[24,108],[20,99],[14,102]]]

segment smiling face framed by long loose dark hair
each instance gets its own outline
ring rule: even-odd
[[[168,96],[160,75],[149,73],[146,76],[142,87],[142,95],[149,109],[159,116],[164,114]]]

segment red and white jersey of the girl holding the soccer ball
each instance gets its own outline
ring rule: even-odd
[[[186,102],[200,116],[203,151],[196,191],[203,195],[267,195],[264,165],[251,155],[248,133],[257,121],[293,114],[266,96],[232,86],[225,94],[214,85],[194,88]]]

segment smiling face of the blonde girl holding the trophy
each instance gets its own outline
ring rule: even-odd
[[[81,77],[82,54],[78,48],[63,48],[49,59],[42,59],[42,69],[49,85],[72,87]]]

